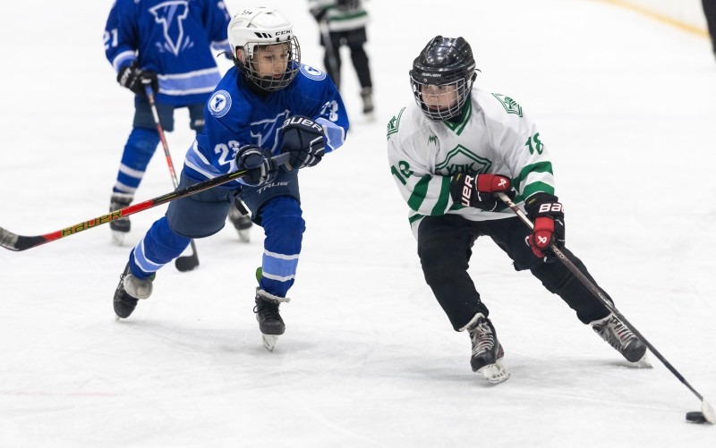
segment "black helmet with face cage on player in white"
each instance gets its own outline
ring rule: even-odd
[[[410,71],[415,102],[431,120],[444,121],[458,116],[470,97],[477,76],[475,70],[473,50],[464,38],[432,38],[415,58]],[[425,86],[445,88],[456,94],[456,104],[445,109],[430,108],[423,99]],[[454,89],[449,89],[450,86]]]

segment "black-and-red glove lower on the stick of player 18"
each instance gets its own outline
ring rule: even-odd
[[[554,243],[558,248],[565,245],[565,212],[558,200],[549,193],[535,193],[524,201],[527,216],[534,224],[525,241],[535,256],[548,263],[557,259],[550,245]]]

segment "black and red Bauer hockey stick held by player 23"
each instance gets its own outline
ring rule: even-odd
[[[288,162],[289,158],[290,158],[290,154],[284,153],[284,154],[280,154],[278,156],[272,157],[271,160],[276,165],[280,166],[280,165],[285,165]],[[201,191],[212,189],[212,188],[216,187],[217,185],[221,185],[226,182],[234,181],[235,179],[240,179],[243,176],[245,176],[247,173],[249,173],[248,170],[232,171],[231,173],[226,173],[226,174],[220,175],[218,177],[209,179],[204,182],[195,183],[193,185],[186,187],[185,189],[175,190],[175,191],[172,191],[171,193],[166,193],[162,196],[158,196],[157,198],[148,199],[148,200],[145,200],[144,202],[134,204],[133,206],[120,208],[119,210],[115,210],[115,211],[110,212],[106,215],[88,219],[87,221],[83,221],[79,224],[74,224],[69,227],[65,227],[62,230],[58,230],[55,232],[49,232],[44,235],[37,235],[37,236],[18,235],[17,233],[10,232],[10,231],[5,230],[4,228],[0,227],[0,246],[4,247],[5,249],[10,249],[10,250],[15,250],[15,251],[32,249],[32,248],[38,247],[42,244],[45,244],[47,242],[59,240],[60,238],[64,238],[65,236],[72,236],[75,233],[79,233],[79,232],[85,231],[87,229],[97,227],[98,225],[101,225],[101,224],[111,223],[112,221],[120,219],[124,216],[134,215],[135,213],[142,212],[149,208],[157,207],[157,206],[166,204],[167,202],[171,202],[176,199],[186,198],[187,196],[191,196],[192,194],[196,194]]]

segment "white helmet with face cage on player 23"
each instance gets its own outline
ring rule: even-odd
[[[301,48],[298,45],[298,39],[294,36],[294,25],[275,8],[265,6],[244,8],[229,22],[228,38],[234,63],[243,72],[245,79],[260,89],[266,91],[284,89],[294,80],[301,66]],[[277,44],[287,45],[289,57],[286,74],[280,80],[261,78],[251,64],[254,52],[259,46]],[[243,61],[238,61],[236,58],[238,48],[243,50]]]

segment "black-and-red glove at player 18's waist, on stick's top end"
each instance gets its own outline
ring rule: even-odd
[[[499,174],[470,175],[459,173],[450,181],[450,197],[453,202],[465,207],[475,207],[488,212],[499,212],[507,208],[493,193],[501,191],[515,198],[516,191],[508,177]]]

